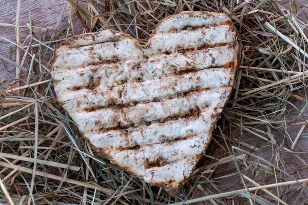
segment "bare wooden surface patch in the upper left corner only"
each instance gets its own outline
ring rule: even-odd
[[[45,32],[53,32],[57,26],[57,21],[60,20],[60,29],[65,29],[67,25],[69,8],[65,8],[67,1],[65,0],[23,0],[22,11],[20,18],[20,42],[27,46],[29,40],[25,42],[29,34],[27,23],[29,20],[29,12],[31,12],[31,22],[34,36],[43,36]],[[17,1],[2,1],[0,3],[0,23],[9,23],[15,25],[16,22],[16,7]],[[65,8],[65,9],[64,9]],[[75,24],[78,27],[80,24]],[[42,29],[41,29],[41,28]],[[16,42],[15,26],[0,26],[0,36],[5,37],[12,42]],[[82,27],[76,28],[76,33],[82,33]],[[35,43],[34,43],[35,44]],[[24,52],[21,51],[21,59]],[[0,39],[0,55],[16,61],[16,50],[11,43]],[[24,63],[25,68],[29,68],[31,58],[27,58]],[[4,65],[5,64],[5,65]],[[21,77],[23,72],[21,72]],[[3,77],[9,79],[15,78],[15,67],[7,62],[0,60],[0,79]]]

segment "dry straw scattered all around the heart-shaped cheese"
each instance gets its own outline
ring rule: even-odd
[[[281,5],[280,3],[286,4]],[[305,1],[303,1],[305,2]],[[54,29],[20,25],[12,85],[0,87],[0,203],[302,204],[308,201],[307,5],[296,1],[73,1]],[[146,44],[159,20],[181,11],[228,14],[237,28],[240,67],[234,92],[207,153],[178,198],[99,156],[55,101],[54,48],[74,34],[113,29]],[[29,14],[30,16],[30,14]],[[61,22],[63,19],[63,22]],[[66,24],[65,30],[60,24]],[[19,28],[28,27],[21,39]],[[35,44],[34,44],[35,43]],[[9,49],[9,46],[8,48]],[[25,61],[29,60],[29,64]],[[3,79],[3,78],[1,78]],[[297,132],[294,132],[297,131]]]

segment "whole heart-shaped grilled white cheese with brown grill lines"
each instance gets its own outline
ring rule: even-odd
[[[228,16],[183,12],[162,20],[146,46],[111,30],[68,38],[52,77],[100,153],[176,196],[232,91],[237,55]]]

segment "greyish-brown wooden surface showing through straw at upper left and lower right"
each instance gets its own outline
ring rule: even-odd
[[[301,0],[301,2],[305,2],[306,0]],[[0,23],[10,23],[15,24],[15,16],[16,16],[16,3],[17,1],[2,1],[1,7],[0,7]],[[21,13],[21,26],[27,26],[26,23],[29,23],[29,11],[31,11],[31,19],[32,19],[32,25],[35,27],[42,27],[46,28],[46,26],[51,27],[50,30],[54,30],[53,28],[56,26],[57,20],[60,19],[60,27],[61,29],[65,28],[67,25],[67,16],[69,9],[64,9],[65,5],[67,4],[67,1],[65,0],[54,0],[54,1],[46,1],[46,0],[24,0],[22,1],[22,13]],[[288,4],[288,1],[285,3]],[[63,11],[63,14],[61,12]],[[300,14],[302,19],[305,19],[303,14]],[[82,26],[81,24],[76,24],[77,28],[75,30],[76,33],[82,32]],[[60,30],[61,30],[60,29]],[[29,33],[29,28],[21,28],[21,43],[24,42],[25,38],[27,37]],[[35,28],[33,29],[34,34],[41,35],[44,32],[46,32],[46,29],[40,29]],[[47,32],[50,32],[47,30]],[[14,27],[10,26],[0,26],[0,36],[6,37],[9,40],[12,40],[12,42],[15,42],[15,34],[14,34]],[[26,45],[25,45],[26,46]],[[10,48],[10,49],[9,49]],[[21,52],[21,58],[23,56],[24,52]],[[6,43],[5,40],[0,39],[0,55],[10,58],[11,60],[15,61],[15,47],[10,44]],[[5,65],[4,65],[5,64]],[[27,58],[25,61],[25,64],[23,65],[25,68],[28,68],[30,65],[30,58]],[[4,77],[7,79],[7,83],[15,77],[15,67],[4,63],[2,60],[0,60],[0,80],[4,79]],[[298,105],[297,105],[298,106]],[[303,105],[302,105],[303,106]],[[290,116],[286,116],[286,118],[292,118],[293,115],[290,114]],[[297,136],[298,131],[300,130],[301,126],[293,126],[288,127],[287,130],[290,133],[290,138],[295,139]],[[282,131],[277,131],[273,128],[270,130],[267,130],[265,127],[262,128],[264,132],[268,133],[268,135],[271,135],[274,137],[277,141],[280,142],[284,147],[287,147],[291,149],[292,142],[288,138],[288,136],[285,135]],[[239,133],[240,135],[240,133]],[[236,137],[238,138],[239,135]],[[298,153],[290,154],[285,152],[281,149],[281,147],[276,147],[276,150],[272,150],[271,147],[264,147],[260,149],[260,151],[254,152],[254,154],[261,156],[262,158],[271,161],[271,157],[273,156],[274,152],[276,154],[279,154],[280,157],[283,159],[283,163],[285,166],[281,166],[281,169],[285,169],[286,172],[296,172],[297,176],[296,178],[308,178],[308,170],[303,169],[308,166],[308,163],[305,161],[306,152],[308,150],[308,141],[304,136],[308,135],[308,131],[305,128],[303,131],[302,136],[300,137],[297,144],[300,147],[296,147],[295,150],[298,151]],[[244,135],[241,136],[241,139],[245,141],[246,143],[249,143],[251,145],[256,145],[258,147],[266,146],[267,144],[260,140],[260,138],[255,137],[255,135],[245,132]],[[218,148],[215,148],[218,149]],[[223,152],[219,157],[223,156]],[[213,160],[213,162],[216,162]],[[260,161],[256,160],[256,163],[260,163]],[[230,168],[229,171],[235,171],[233,162],[229,163],[228,166]],[[232,167],[233,166],[233,167]],[[264,165],[265,166],[265,165]],[[280,165],[279,165],[280,166]],[[225,169],[220,168],[221,172],[216,172],[217,177],[227,175],[228,173],[225,173]],[[249,172],[249,171],[248,171]],[[294,175],[293,175],[294,176]],[[236,190],[236,189],[242,189],[242,183],[238,181],[237,177],[228,177],[225,179],[221,179],[222,181],[226,181],[227,183],[222,183],[221,190],[222,191],[229,191],[229,190]],[[275,181],[273,181],[275,182]],[[268,182],[267,182],[268,183]],[[234,186],[230,186],[234,185]],[[275,190],[271,190],[273,193],[277,194]],[[298,194],[298,192],[297,192]],[[296,198],[297,195],[294,197]],[[307,197],[302,196],[303,200],[300,201],[300,203],[303,203],[304,201],[307,201]]]

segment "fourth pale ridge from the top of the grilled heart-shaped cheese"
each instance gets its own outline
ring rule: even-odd
[[[114,104],[126,104],[133,101],[155,100],[172,94],[183,93],[192,90],[228,86],[234,80],[232,69],[201,70],[196,73],[188,73],[181,76],[170,76],[157,80],[149,80],[144,83],[129,84],[110,89],[100,88],[95,92],[87,90],[64,92],[58,94],[63,105],[72,106],[74,101],[80,97],[88,98],[79,107],[72,107],[73,110],[84,109],[89,106],[107,106]],[[205,80],[210,79],[210,80]],[[164,90],[164,92],[159,92]],[[64,98],[62,98],[64,97]],[[94,100],[99,100],[93,105]],[[91,107],[92,107],[91,106]],[[72,110],[69,109],[69,110]]]

